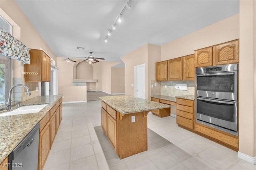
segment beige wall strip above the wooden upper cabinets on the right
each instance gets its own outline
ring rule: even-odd
[[[194,53],[194,50],[239,38],[239,14],[204,27],[161,46],[161,61]]]

